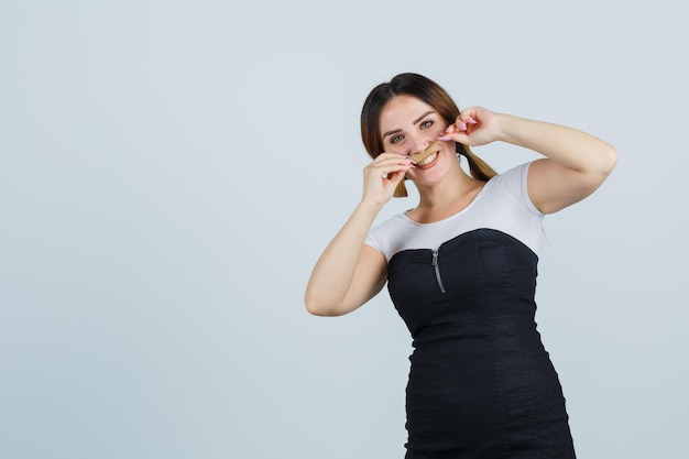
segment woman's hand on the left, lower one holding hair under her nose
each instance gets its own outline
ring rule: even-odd
[[[398,153],[381,153],[371,164],[363,168],[363,197],[383,207],[395,193],[395,188],[404,179],[404,174],[414,167],[414,162]]]

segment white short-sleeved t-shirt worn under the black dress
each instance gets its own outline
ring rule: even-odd
[[[526,190],[525,163],[491,178],[469,206],[445,220],[418,223],[398,214],[369,231],[365,244],[387,261],[409,249],[437,249],[442,242],[481,228],[502,231],[520,240],[536,255],[543,242],[543,217]]]

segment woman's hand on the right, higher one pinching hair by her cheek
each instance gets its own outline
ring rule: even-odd
[[[440,133],[440,140],[452,140],[469,146],[494,142],[499,139],[499,117],[483,107],[466,108],[455,123]]]

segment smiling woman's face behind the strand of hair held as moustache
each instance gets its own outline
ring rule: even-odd
[[[438,140],[447,122],[433,107],[413,96],[395,96],[381,110],[380,127],[383,149],[387,153],[406,156],[426,150]],[[407,177],[418,184],[431,183],[447,174],[448,167],[458,165],[455,142],[437,143],[437,152],[407,172]]]

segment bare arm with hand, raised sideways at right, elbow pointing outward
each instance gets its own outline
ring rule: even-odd
[[[469,145],[503,141],[546,156],[535,161],[528,172],[528,195],[544,214],[556,212],[589,196],[608,178],[617,161],[612,145],[586,132],[480,107],[463,110],[458,123],[448,131],[452,140]]]

